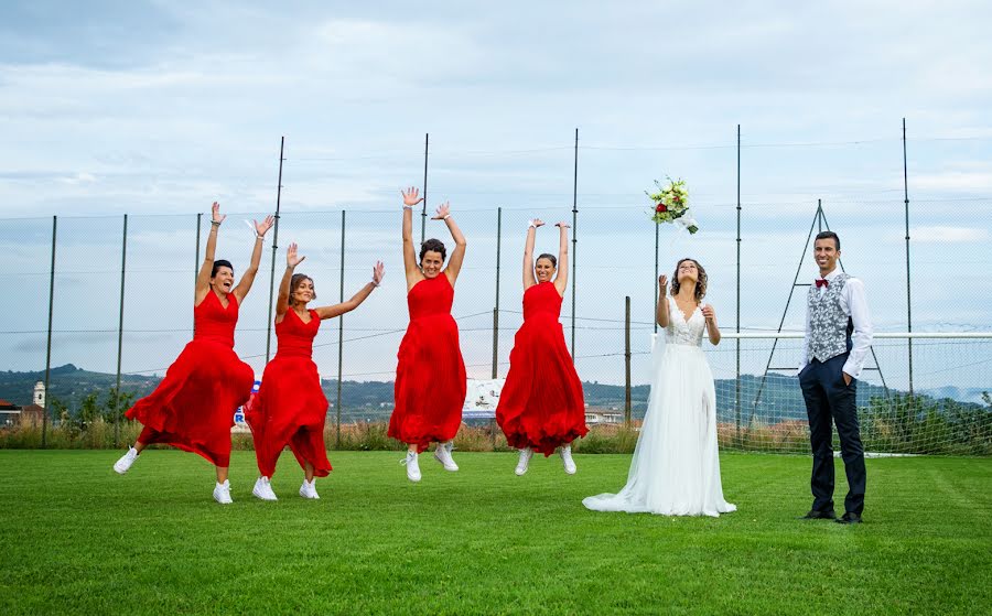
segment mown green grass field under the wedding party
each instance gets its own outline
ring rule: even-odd
[[[0,451],[2,614],[989,614],[992,460],[870,460],[865,523],[800,521],[810,462],[724,454],[719,519],[585,510],[629,456],[332,452],[322,500],[211,498],[197,456],[149,451],[121,477],[106,451]],[[838,461],[839,501],[843,500]]]

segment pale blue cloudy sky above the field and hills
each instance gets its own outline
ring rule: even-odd
[[[427,133],[429,207],[450,199],[468,237],[454,313],[475,376],[492,356],[497,208],[505,375],[526,221],[571,221],[573,187],[583,378],[622,381],[629,295],[635,381],[646,380],[655,246],[644,191],[666,175],[689,183],[702,231],[662,228],[662,269],[697,256],[732,328],[738,125],[742,329],[801,326],[801,293],[786,303],[797,270],[812,277],[804,249],[821,199],[878,328],[906,331],[906,118],[914,329],[990,331],[990,22],[986,3],[955,1],[4,2],[0,278],[23,299],[0,309],[0,369],[43,366],[52,216],[53,365],[116,369],[128,214],[122,366],[161,372],[192,328],[196,214],[222,203],[220,252],[242,269],[242,220],[274,209],[282,137],[277,261],[298,241],[321,300],[336,300],[342,209],[346,296],[386,261],[388,283],[345,320],[344,374],[356,379],[395,369],[406,326],[398,193],[423,183]],[[538,248],[556,239],[546,228]],[[237,349],[260,372],[268,275],[256,284]],[[571,310],[569,295],[567,334]],[[324,329],[319,365],[334,376],[336,324]],[[770,349],[748,345],[745,364],[759,371]],[[967,369],[950,375],[978,387],[990,347],[915,357],[935,386],[958,361]],[[902,348],[878,348],[898,380]],[[714,350],[724,372],[727,352]]]

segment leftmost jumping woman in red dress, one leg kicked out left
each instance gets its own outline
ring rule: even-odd
[[[123,475],[145,446],[173,445],[208,460],[217,469],[214,499],[229,504],[230,428],[234,412],[251,395],[255,371],[234,352],[238,307],[255,282],[261,260],[262,240],[274,224],[267,216],[255,223],[251,263],[234,283],[229,261],[214,260],[217,231],[226,216],[214,202],[206,256],[196,277],[193,307],[193,342],[187,344],[151,395],[138,400],[126,413],[144,424],[133,447],[114,465]]]

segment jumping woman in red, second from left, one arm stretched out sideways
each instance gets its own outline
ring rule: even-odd
[[[296,256],[296,245],[285,252],[285,272],[279,284],[276,301],[276,337],[279,348],[266,366],[261,387],[248,403],[245,419],[255,439],[255,456],[259,477],[251,494],[262,500],[276,500],[270,479],[276,472],[279,454],[289,445],[303,467],[300,496],[320,498],[314,477],[331,472],[324,447],[324,420],[327,398],[321,389],[321,377],[313,363],[313,338],[321,321],[351,312],[368,298],[382,281],[382,263],[373,268],[373,280],[347,302],[308,310],[316,299],[313,279],[293,270],[306,257]]]

